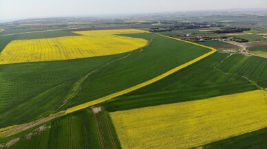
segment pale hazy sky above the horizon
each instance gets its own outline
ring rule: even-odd
[[[267,8],[267,0],[0,0],[0,20]]]

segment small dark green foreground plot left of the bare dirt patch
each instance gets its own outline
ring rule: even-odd
[[[87,108],[51,122],[49,148],[100,148],[92,111]]]

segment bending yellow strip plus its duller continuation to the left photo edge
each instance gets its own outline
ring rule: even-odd
[[[167,38],[169,38],[169,37],[167,37]],[[178,41],[182,41],[182,40],[177,39],[177,38],[173,38],[173,39],[178,40]],[[191,43],[191,42],[188,42],[188,41],[182,41],[182,42]],[[157,76],[156,78],[153,78],[151,80],[148,80],[146,82],[143,82],[141,84],[133,86],[133,87],[131,87],[129,89],[125,89],[125,90],[122,90],[122,91],[118,91],[116,93],[112,93],[110,95],[104,96],[104,98],[98,98],[98,100],[94,100],[92,102],[86,102],[85,104],[81,104],[79,106],[74,106],[72,108],[67,108],[67,111],[61,111],[61,112],[58,112],[56,114],[50,115],[48,117],[45,117],[45,118],[42,118],[42,119],[37,119],[34,122],[21,124],[21,125],[19,125],[17,127],[14,127],[12,130],[6,130],[5,132],[1,132],[0,136],[3,137],[3,136],[6,136],[8,134],[11,135],[11,134],[14,134],[14,133],[18,133],[17,130],[20,131],[21,128],[23,129],[23,128],[28,128],[28,126],[36,126],[36,125],[41,124],[43,122],[47,122],[47,121],[49,121],[51,119],[54,119],[55,117],[60,117],[60,116],[65,115],[67,113],[72,113],[74,111],[78,111],[78,110],[81,110],[83,108],[86,108],[86,107],[89,107],[89,106],[93,106],[94,104],[98,104],[100,102],[107,101],[107,100],[109,100],[111,98],[117,97],[118,95],[123,95],[125,93],[129,93],[129,92],[134,91],[136,89],[140,89],[141,87],[145,87],[147,84],[151,84],[151,83],[156,82],[156,81],[158,81],[158,80],[160,80],[162,78],[165,78],[165,77],[169,76],[171,73],[174,73],[175,71],[178,71],[178,70],[180,70],[180,69],[182,69],[184,67],[187,67],[187,66],[189,66],[189,65],[191,65],[191,64],[193,64],[193,63],[205,58],[206,56],[209,56],[209,55],[215,53],[215,51],[216,51],[216,49],[211,48],[211,47],[206,47],[204,45],[199,45],[199,44],[196,44],[196,43],[191,43],[191,44],[197,45],[197,46],[200,46],[200,47],[204,47],[204,48],[207,48],[207,49],[211,49],[211,51],[209,51],[208,53],[206,53],[206,54],[204,54],[204,55],[202,55],[202,56],[200,56],[198,58],[195,58],[194,60],[186,62],[184,65],[180,65],[179,67],[175,67],[174,69],[171,69],[170,71],[167,71],[166,73],[163,73],[162,75]]]

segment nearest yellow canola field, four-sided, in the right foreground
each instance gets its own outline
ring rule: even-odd
[[[122,148],[193,148],[266,127],[266,96],[249,91],[110,115]]]

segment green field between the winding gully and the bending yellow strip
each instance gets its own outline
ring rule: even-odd
[[[211,49],[205,47],[177,41],[158,34],[132,34],[127,36],[145,38],[151,43],[148,47],[141,49],[140,52],[118,60],[90,76],[83,84],[83,92],[67,103],[66,107],[91,102],[111,95],[111,93],[129,89],[211,51]]]

